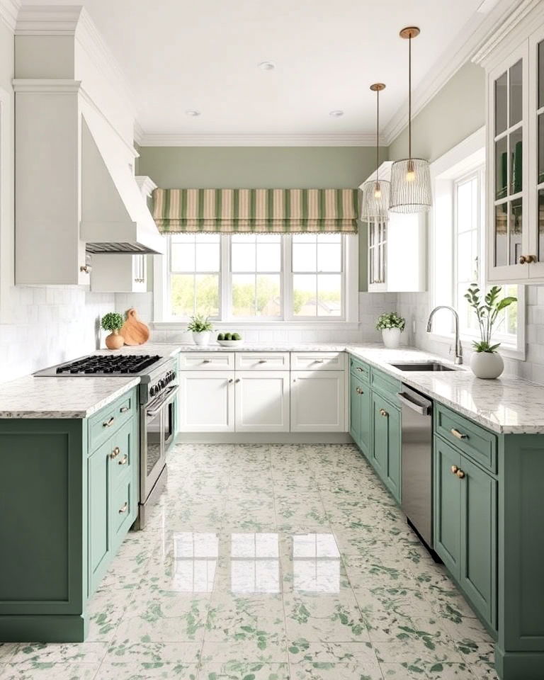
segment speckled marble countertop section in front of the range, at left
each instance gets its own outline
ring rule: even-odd
[[[0,385],[0,418],[88,418],[140,378],[55,378],[32,375]]]

